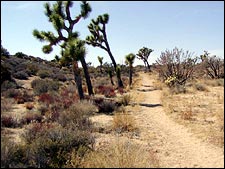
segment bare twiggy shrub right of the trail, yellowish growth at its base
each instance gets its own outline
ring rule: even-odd
[[[192,78],[197,58],[192,58],[192,53],[174,48],[172,51],[162,52],[157,59],[159,77],[168,86],[185,85]]]

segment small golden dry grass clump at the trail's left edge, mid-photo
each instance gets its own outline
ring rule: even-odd
[[[137,129],[133,116],[125,111],[117,112],[114,115],[112,128],[119,133],[132,132]]]

